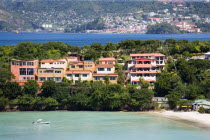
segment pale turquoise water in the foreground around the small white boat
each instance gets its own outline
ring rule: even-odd
[[[50,125],[33,125],[37,119]],[[0,113],[0,140],[209,140],[210,131],[130,112]]]

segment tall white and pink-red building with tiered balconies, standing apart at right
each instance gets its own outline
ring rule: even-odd
[[[140,85],[139,78],[151,84],[156,81],[156,74],[165,66],[165,55],[160,53],[130,54],[127,62],[127,76],[132,85]]]

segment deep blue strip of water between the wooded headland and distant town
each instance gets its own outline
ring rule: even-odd
[[[166,40],[187,39],[187,40],[210,40],[210,33],[204,34],[72,34],[72,33],[10,33],[0,32],[1,45],[15,45],[19,42],[32,41],[44,43],[47,41],[61,41],[72,46],[90,45],[94,42],[105,44],[107,42],[118,43],[125,39],[159,39]]]

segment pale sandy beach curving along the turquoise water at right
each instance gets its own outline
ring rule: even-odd
[[[158,115],[174,120],[192,122],[201,128],[210,129],[210,114],[201,114],[199,112],[174,112],[174,111],[154,111],[149,112],[150,115]]]

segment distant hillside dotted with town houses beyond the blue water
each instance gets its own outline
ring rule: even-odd
[[[210,32],[209,9],[209,0],[2,0],[0,31],[201,33]]]

